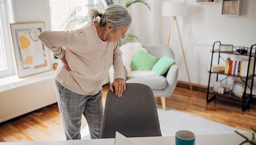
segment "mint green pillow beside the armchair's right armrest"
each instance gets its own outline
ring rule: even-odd
[[[168,69],[171,67],[171,65],[173,65],[174,62],[175,60],[173,58],[164,55],[158,60],[158,62],[154,64],[152,70],[157,76],[162,76],[168,71]]]

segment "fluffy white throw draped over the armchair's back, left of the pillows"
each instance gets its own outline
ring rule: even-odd
[[[132,69],[130,66],[131,62],[132,62],[132,58],[134,57],[134,55],[136,54],[136,52],[139,49],[148,53],[147,49],[142,47],[142,43],[140,43],[140,42],[129,42],[129,43],[125,43],[124,45],[120,46],[120,50],[123,53],[122,58],[123,58],[123,62],[124,62],[124,67],[128,74],[130,72],[132,72]]]

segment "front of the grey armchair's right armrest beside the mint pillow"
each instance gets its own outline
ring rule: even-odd
[[[178,79],[178,65],[173,64],[167,72],[166,80],[168,84],[176,86],[177,79]]]

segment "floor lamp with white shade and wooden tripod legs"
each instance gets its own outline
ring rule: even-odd
[[[176,22],[178,33],[179,33],[179,38],[180,38],[180,43],[181,43],[181,48],[182,48],[182,53],[183,53],[183,58],[184,58],[184,62],[185,62],[185,66],[186,66],[186,70],[187,70],[187,74],[188,74],[189,87],[190,87],[190,90],[192,90],[192,85],[191,85],[189,73],[188,73],[187,61],[186,61],[186,57],[185,57],[185,53],[184,53],[184,49],[183,49],[183,45],[182,45],[182,41],[181,41],[179,25],[178,25],[177,18],[176,18],[176,16],[185,16],[185,15],[187,15],[187,4],[186,3],[175,3],[175,2],[163,2],[162,3],[162,16],[173,16],[167,45],[169,47],[171,47],[171,45],[172,45],[173,25],[174,25],[174,22]]]

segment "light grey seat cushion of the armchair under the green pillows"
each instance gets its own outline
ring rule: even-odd
[[[164,76],[131,77],[126,80],[126,83],[143,83],[156,90],[164,89],[167,86]]]

